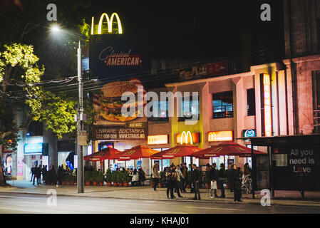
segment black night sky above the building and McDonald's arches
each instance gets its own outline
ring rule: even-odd
[[[282,1],[95,1],[97,17],[118,12],[124,33],[141,36],[159,56],[199,58],[232,56],[242,51],[242,33],[252,36],[253,51],[283,56]],[[260,6],[269,3],[272,21],[260,20]],[[91,18],[87,19],[91,21]]]

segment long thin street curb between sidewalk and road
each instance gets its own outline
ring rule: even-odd
[[[31,192],[1,192],[0,193],[16,193],[16,194],[26,194],[26,195],[47,195],[44,193],[31,193]],[[89,192],[88,192],[89,193]],[[256,205],[261,205],[260,201],[259,202],[222,202],[222,201],[211,201],[210,199],[201,199],[201,200],[193,200],[193,199],[148,199],[148,198],[123,198],[123,197],[94,197],[94,196],[86,196],[86,195],[64,195],[64,194],[57,194],[57,196],[63,196],[63,197],[88,197],[88,198],[104,198],[104,199],[143,199],[143,200],[150,200],[150,201],[166,201],[166,202],[204,202],[204,203],[220,203],[220,204],[256,204]],[[214,200],[214,199],[212,199]],[[242,199],[243,200],[243,199]],[[259,200],[259,199],[257,199]],[[271,206],[283,206],[283,207],[319,207],[319,204],[282,204],[282,203],[273,203],[273,199],[271,199]],[[267,207],[267,206],[266,206]]]

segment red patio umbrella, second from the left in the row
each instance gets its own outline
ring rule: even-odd
[[[125,160],[138,160],[140,158],[148,158],[151,155],[154,155],[155,153],[158,153],[158,150],[153,150],[150,147],[145,147],[144,145],[137,145],[135,147],[132,147],[131,149],[125,150],[123,152],[120,152],[118,154],[118,159],[120,161]]]

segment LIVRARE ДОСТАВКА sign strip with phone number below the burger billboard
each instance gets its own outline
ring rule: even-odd
[[[145,140],[147,136],[148,128],[97,126],[93,128],[92,140]]]

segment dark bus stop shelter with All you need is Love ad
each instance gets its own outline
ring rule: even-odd
[[[320,190],[320,134],[243,138],[252,145],[252,197],[269,189]],[[267,155],[255,155],[253,147],[267,147]],[[261,149],[260,149],[261,150]]]

